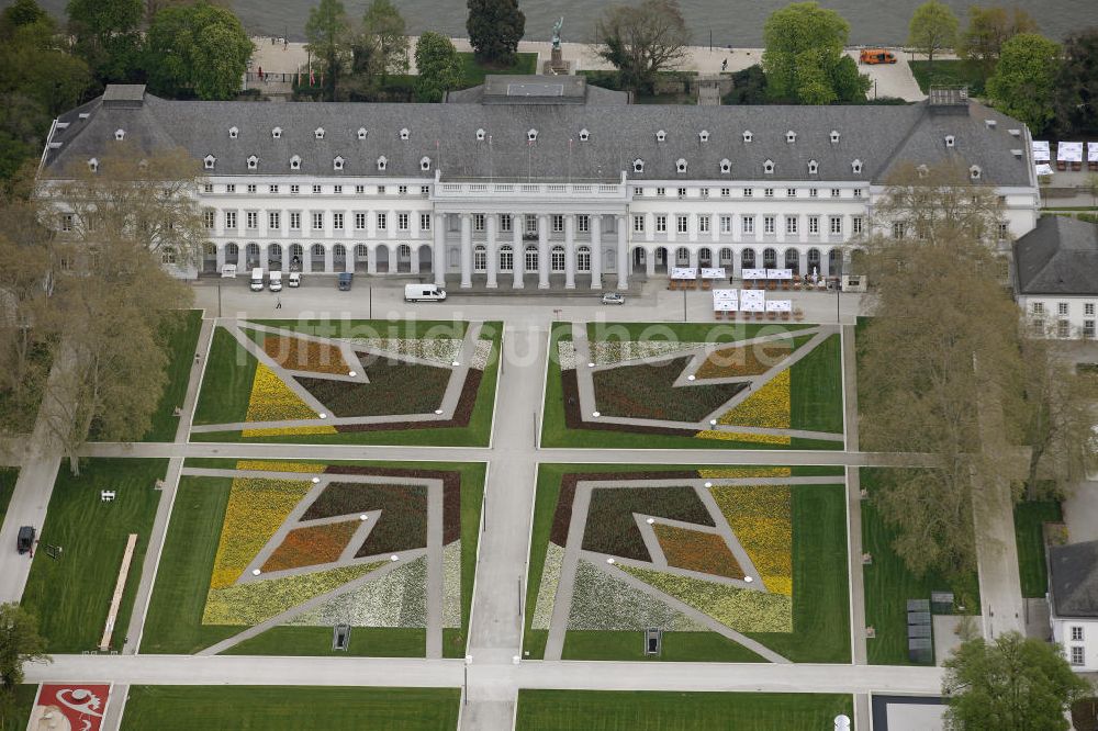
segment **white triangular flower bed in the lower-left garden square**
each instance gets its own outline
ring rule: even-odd
[[[293,618],[289,625],[330,627],[426,627],[427,556],[341,594]]]

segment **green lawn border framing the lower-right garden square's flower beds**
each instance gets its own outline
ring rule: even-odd
[[[548,638],[534,630],[534,609],[545,567],[546,547],[568,472],[636,471],[627,464],[541,464],[535,493],[529,577],[526,585],[524,656],[540,660]],[[646,471],[694,470],[684,465],[646,465]],[[841,475],[841,468],[793,468],[794,476]],[[841,481],[841,480],[840,480]],[[850,620],[847,570],[845,492],[842,485],[793,488],[794,631],[755,632],[750,637],[794,662],[850,662]],[[651,660],[642,655],[642,632],[568,632],[565,660]],[[714,632],[668,632],[666,661],[759,662],[753,652]],[[529,653],[528,655],[526,653]]]

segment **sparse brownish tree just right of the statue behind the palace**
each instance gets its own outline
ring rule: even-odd
[[[685,57],[690,32],[676,0],[645,0],[608,8],[595,24],[595,43],[623,89],[652,93],[656,75]]]

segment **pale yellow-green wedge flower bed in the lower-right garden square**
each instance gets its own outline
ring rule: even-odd
[[[793,599],[783,594],[623,564],[617,567],[738,632],[793,631]]]

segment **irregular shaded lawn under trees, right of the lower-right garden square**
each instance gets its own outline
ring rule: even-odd
[[[870,496],[878,488],[879,470],[862,468],[862,488]],[[946,577],[939,572],[916,576],[904,564],[892,543],[896,531],[881,518],[872,499],[862,502],[862,550],[873,556],[864,566],[865,623],[876,631],[866,641],[869,660],[874,665],[907,665],[907,600],[929,599],[931,592],[953,592],[956,601],[967,603],[963,614],[979,612],[979,585],[976,571]],[[968,598],[965,598],[968,597]],[[960,606],[957,607],[960,611]]]

